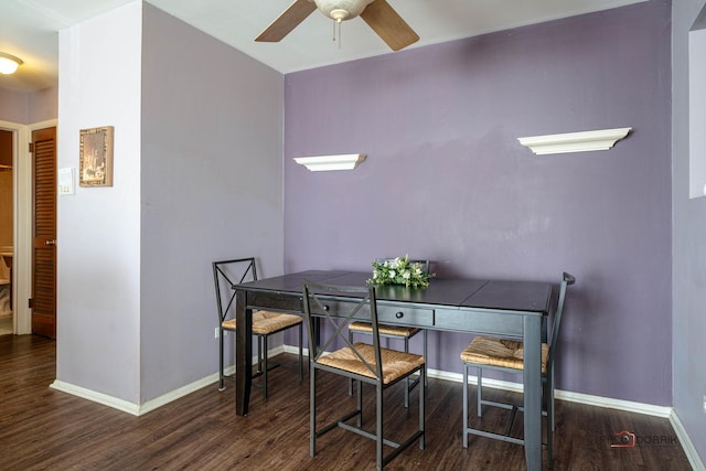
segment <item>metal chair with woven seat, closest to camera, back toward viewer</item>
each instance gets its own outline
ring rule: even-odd
[[[426,377],[425,357],[411,353],[383,349],[379,345],[377,301],[374,287],[343,287],[303,281],[303,311],[309,331],[310,358],[310,454],[317,453],[317,439],[336,427],[375,440],[376,469],[382,470],[403,450],[419,441],[424,450],[425,388],[419,388],[419,427],[407,439],[396,442],[383,435],[383,392],[419,373]],[[355,318],[370,318],[373,344],[352,343],[345,331]],[[319,320],[323,323],[319,328]],[[320,341],[318,341],[320,340]],[[328,352],[336,343],[345,346]],[[324,371],[344,376],[357,383],[357,407],[321,428],[317,428],[317,373]],[[363,384],[375,386],[375,431],[363,428]],[[327,393],[332,390],[327,390]],[[355,418],[355,424],[350,424]],[[393,450],[384,453],[384,446]]]

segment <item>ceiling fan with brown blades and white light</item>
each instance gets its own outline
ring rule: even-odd
[[[361,17],[393,51],[419,40],[386,0],[295,0],[255,41],[281,41],[317,9],[338,23],[339,36],[342,21]]]

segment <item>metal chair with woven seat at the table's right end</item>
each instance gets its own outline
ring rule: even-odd
[[[569,285],[574,285],[576,278],[564,272],[561,285],[559,288],[558,300],[554,313],[554,324],[552,327],[552,336],[549,343],[542,344],[542,383],[543,383],[543,406],[542,415],[547,417],[547,442],[543,447],[547,450],[547,465],[553,463],[553,442],[555,430],[555,404],[554,404],[554,358],[556,356],[556,345],[559,336],[559,328],[561,324],[561,313],[564,311],[564,300],[566,299],[566,289]],[[495,370],[509,373],[522,373],[524,370],[523,362],[523,343],[513,340],[494,339],[489,336],[477,336],[461,352],[461,361],[463,362],[463,448],[468,448],[468,436],[470,433],[498,440],[509,441],[512,443],[524,445],[524,440],[510,436],[512,424],[517,410],[523,411],[523,407],[511,404],[496,403],[482,398],[483,368]],[[490,432],[482,429],[469,427],[468,422],[468,370],[474,367],[478,371],[478,417],[482,417],[482,405],[502,407],[511,409],[510,422],[504,433]]]

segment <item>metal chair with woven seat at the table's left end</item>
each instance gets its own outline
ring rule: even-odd
[[[225,379],[235,381],[235,375],[224,372],[224,334],[235,332],[235,286],[257,280],[255,258],[236,258],[232,260],[213,261],[213,281],[216,290],[216,307],[218,309],[218,390],[225,389]],[[227,300],[227,302],[224,302]],[[269,364],[268,338],[287,329],[299,327],[299,383],[303,381],[303,354],[302,354],[302,318],[297,314],[282,312],[255,311],[253,312],[253,335],[257,338],[257,370],[253,377],[263,376],[263,394],[267,400],[268,372],[278,367],[295,367],[293,365]]]

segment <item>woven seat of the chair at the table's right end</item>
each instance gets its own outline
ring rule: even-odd
[[[490,336],[477,336],[461,352],[461,361],[504,368],[524,370],[522,342]],[[549,345],[542,344],[542,373],[547,372]]]

